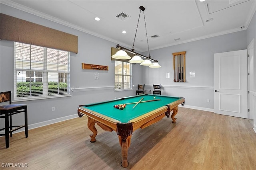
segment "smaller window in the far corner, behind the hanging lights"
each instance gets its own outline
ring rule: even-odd
[[[132,64],[115,61],[115,90],[132,88]]]

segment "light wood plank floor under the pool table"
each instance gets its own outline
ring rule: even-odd
[[[180,108],[177,123],[164,117],[132,135],[129,166],[120,166],[121,148],[115,132],[98,125],[90,143],[87,117],[31,129],[0,138],[1,170],[256,170],[256,134],[252,120]],[[5,168],[2,163],[27,163]]]

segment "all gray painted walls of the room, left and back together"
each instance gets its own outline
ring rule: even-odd
[[[28,105],[28,124],[30,128],[64,119],[76,117],[77,106],[114,98],[135,95],[136,84],[146,84],[152,90],[152,84],[163,85],[163,95],[185,97],[187,107],[213,109],[213,54],[246,49],[248,36],[239,31],[150,51],[161,68],[148,68],[133,64],[133,90],[114,91],[114,61],[110,60],[110,49],[116,43],[89,35],[82,31],[49,21],[32,14],[1,4],[1,13],[14,16],[58,29],[78,36],[78,54],[70,54],[71,88],[84,88],[72,92],[70,97],[24,101]],[[255,17],[254,17],[255,18]],[[254,19],[255,25],[255,19]],[[255,37],[255,26],[254,33]],[[13,42],[0,41],[0,91],[13,91]],[[186,82],[173,82],[172,53],[186,51]],[[147,53],[144,53],[147,56]],[[81,63],[108,65],[108,71],[97,71],[99,80],[94,80],[94,70],[82,70]],[[189,78],[189,71],[195,71],[196,77]],[[171,78],[165,78],[170,72]],[[110,88],[109,88],[110,87]],[[112,87],[112,88],[111,88]],[[209,99],[210,102],[206,102]],[[55,107],[55,111],[51,107]],[[19,119],[21,121],[22,119]],[[15,122],[14,122],[15,123]],[[1,123],[2,124],[2,123]]]

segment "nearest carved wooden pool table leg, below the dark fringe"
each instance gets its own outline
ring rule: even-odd
[[[122,162],[121,162],[121,166],[126,168],[129,165],[128,162],[128,148],[130,147],[131,144],[131,137],[132,135],[128,136],[126,139],[126,142],[122,142],[122,138],[120,136],[118,136],[119,138],[119,143],[121,146],[121,150],[122,150]]]

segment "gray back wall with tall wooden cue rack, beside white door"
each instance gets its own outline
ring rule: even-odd
[[[143,78],[150,84],[162,84],[163,94],[185,98],[187,107],[211,110],[213,96],[213,55],[227,51],[246,49],[246,31],[193,41],[150,51],[150,55],[162,66],[157,69],[145,67]],[[186,51],[186,82],[173,82],[172,53]],[[195,78],[189,72],[195,71]],[[170,72],[170,78],[166,78]],[[152,87],[151,87],[152,88]],[[209,100],[210,102],[206,102]],[[206,109],[207,110],[207,109]]]

